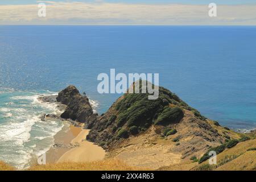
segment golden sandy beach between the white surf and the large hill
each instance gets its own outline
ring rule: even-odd
[[[55,135],[55,146],[46,154],[46,162],[92,162],[102,160],[105,150],[92,142],[86,141],[89,130],[70,124]]]

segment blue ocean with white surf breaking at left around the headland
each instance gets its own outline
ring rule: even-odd
[[[97,76],[159,73],[159,85],[223,126],[256,128],[256,27],[0,26],[0,160],[26,168],[63,123],[40,103],[72,84],[98,113],[120,94],[99,94]]]

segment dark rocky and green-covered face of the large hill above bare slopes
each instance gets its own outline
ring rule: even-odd
[[[148,100],[148,95],[124,94],[94,123],[87,139],[108,149],[123,139],[144,133],[151,126],[159,127],[166,137],[177,133],[172,126],[180,123],[185,110],[202,121],[206,120],[199,111],[163,87],[159,87],[156,100]]]

